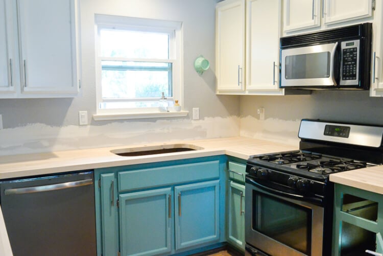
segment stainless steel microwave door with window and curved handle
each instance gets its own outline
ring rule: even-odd
[[[281,49],[281,88],[336,86],[338,42]]]

